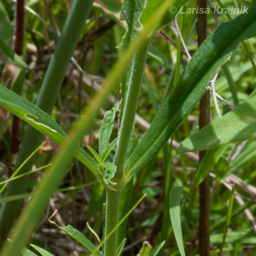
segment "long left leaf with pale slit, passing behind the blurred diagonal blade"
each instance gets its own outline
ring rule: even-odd
[[[66,143],[67,134],[51,116],[46,114],[40,108],[37,108],[28,100],[23,99],[19,95],[5,88],[3,85],[0,85],[0,105],[14,115],[25,120],[28,124],[56,141],[58,144],[64,145]],[[100,178],[100,172],[98,171],[96,162],[84,151],[84,149],[79,147],[74,153],[74,156],[85,164],[97,178]]]

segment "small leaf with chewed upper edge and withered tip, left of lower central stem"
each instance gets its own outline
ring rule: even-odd
[[[50,219],[49,221],[52,224],[54,224],[57,228],[64,231],[66,234],[73,237],[79,244],[82,244],[90,252],[93,252],[96,249],[96,247],[82,233],[80,233],[72,226],[68,225],[66,228],[61,228],[55,221],[52,221]],[[97,250],[95,251],[95,256],[102,256],[102,254]]]

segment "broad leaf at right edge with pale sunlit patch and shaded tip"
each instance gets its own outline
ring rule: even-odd
[[[177,153],[210,149],[256,136],[256,96],[182,141]]]

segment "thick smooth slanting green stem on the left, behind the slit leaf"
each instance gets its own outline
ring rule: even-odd
[[[44,77],[42,87],[40,89],[36,106],[50,114],[57,99],[60,86],[65,77],[70,59],[76,48],[76,44],[80,39],[86,19],[89,15],[92,0],[84,2],[84,0],[74,0],[68,13],[67,20],[62,29],[61,36],[56,45],[52,59],[48,66]],[[16,162],[14,171],[24,162],[25,159],[38,147],[41,143],[43,135],[29,126],[25,132],[25,136],[20,149],[19,157]],[[33,143],[31,143],[33,142]],[[33,156],[28,163],[20,170],[23,174],[31,170],[35,161]],[[29,175],[19,180],[14,180],[7,187],[5,196],[13,196],[22,194],[27,186]],[[17,216],[21,200],[16,200],[1,205],[0,209],[0,247],[12,226],[12,222]]]

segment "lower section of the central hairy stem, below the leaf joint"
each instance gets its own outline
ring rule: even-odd
[[[119,199],[120,191],[116,192],[107,189],[105,237],[108,236],[118,223]],[[105,242],[104,256],[116,256],[116,241],[117,229]]]

